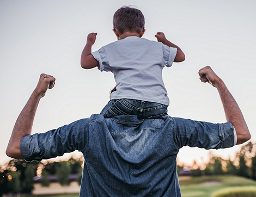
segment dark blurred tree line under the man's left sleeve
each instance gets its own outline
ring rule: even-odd
[[[70,184],[70,175],[77,174],[77,183],[82,179],[83,158],[71,157],[62,162],[26,162],[25,160],[12,159],[0,166],[0,196],[5,193],[28,193],[33,190],[34,177],[41,175],[41,185],[50,186],[49,176],[54,175],[62,186]]]

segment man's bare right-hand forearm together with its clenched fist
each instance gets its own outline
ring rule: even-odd
[[[222,79],[215,74],[210,66],[200,69],[199,77],[202,82],[208,82],[217,88],[224,107],[226,119],[228,122],[231,122],[235,128],[237,144],[245,143],[247,140],[251,139],[251,134],[249,133],[242,112]]]

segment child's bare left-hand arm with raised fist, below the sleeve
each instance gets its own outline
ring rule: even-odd
[[[92,46],[96,40],[97,33],[90,33],[87,36],[87,43],[81,55],[81,66],[83,69],[92,69],[99,66],[99,62],[94,59],[92,53]]]

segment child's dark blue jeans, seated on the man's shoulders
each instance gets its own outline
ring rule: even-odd
[[[161,118],[167,115],[165,104],[139,101],[133,99],[110,100],[102,109],[101,114],[105,118],[117,115],[137,115],[139,118]]]

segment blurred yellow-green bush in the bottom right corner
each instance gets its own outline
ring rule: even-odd
[[[256,188],[230,187],[212,194],[212,197],[256,197]]]

